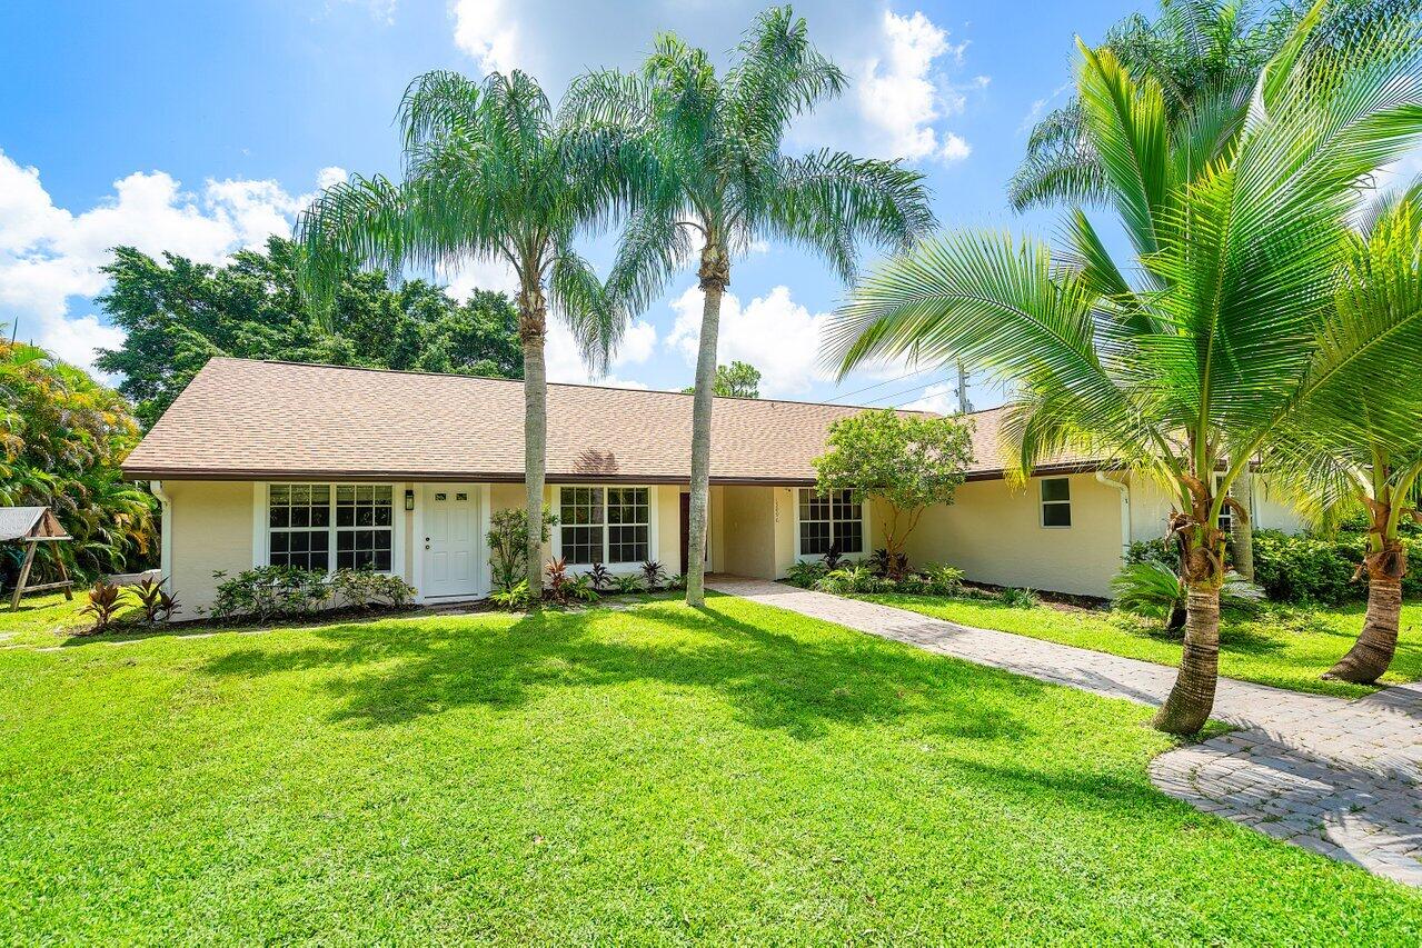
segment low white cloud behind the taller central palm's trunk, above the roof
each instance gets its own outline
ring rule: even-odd
[[[665,344],[681,352],[690,367],[697,362],[701,304],[702,294],[697,287],[670,303],[677,320]],[[816,381],[829,378],[818,367],[819,338],[828,320],[829,314],[811,313],[795,303],[784,286],[744,307],[739,297],[727,293],[721,297],[718,361],[729,364],[741,360],[761,370],[761,392],[765,395],[803,395]]]

